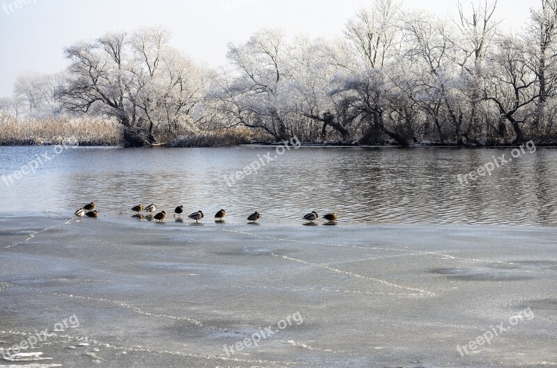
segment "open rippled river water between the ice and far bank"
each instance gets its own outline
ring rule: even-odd
[[[13,174],[46,150],[0,147],[0,175]],[[138,203],[155,203],[168,214],[178,205],[207,216],[223,208],[231,223],[245,223],[253,211],[265,223],[302,223],[310,211],[334,211],[340,224],[557,225],[557,150],[539,148],[461,186],[457,174],[510,150],[301,147],[228,186],[225,177],[269,151],[79,147],[10,186],[0,180],[0,211],[73,214],[93,201],[103,214]]]

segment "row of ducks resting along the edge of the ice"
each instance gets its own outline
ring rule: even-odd
[[[154,204],[150,204],[147,207],[143,207],[143,205],[136,205],[134,207],[132,207],[132,211],[137,212],[137,214],[146,211],[150,214],[150,216],[152,216],[156,221],[164,221],[164,219],[166,218],[166,211],[161,211],[158,214],[155,214],[153,216],[153,213],[157,210],[157,206],[155,206]],[[180,218],[180,215],[184,212],[184,206],[178,206],[174,209],[174,215],[176,216],[178,215],[178,218]],[[88,217],[98,217],[99,214],[97,211],[95,211],[95,203],[91,202],[88,205],[85,205],[84,207],[81,207],[80,209],[78,209],[77,211],[75,211],[75,216],[78,217],[82,217],[82,216],[88,216]],[[199,220],[201,220],[204,215],[203,215],[203,211],[197,211],[194,212],[193,214],[188,215],[189,218],[191,218],[192,220],[195,220],[196,223],[198,223]],[[226,217],[226,211],[224,209],[221,209],[220,211],[217,212],[217,214],[214,215],[214,218],[217,221],[223,221],[223,218]],[[253,212],[253,214],[249,215],[247,220],[251,221],[251,223],[256,223],[259,219],[261,218],[261,215],[259,214],[258,211]],[[306,214],[306,216],[304,216],[304,220],[309,221],[310,223],[313,223],[313,221],[317,220],[317,218],[319,218],[319,215],[317,214],[317,212],[315,211],[311,211],[311,213]],[[332,214],[326,214],[325,216],[323,216],[323,218],[329,222],[334,222],[338,219],[338,216],[333,212]]]

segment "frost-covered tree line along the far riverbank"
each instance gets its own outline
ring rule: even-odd
[[[362,8],[334,39],[264,29],[211,69],[158,28],[107,33],[65,49],[58,74],[21,74],[0,110],[35,118],[94,115],[130,146],[247,129],[285,141],[450,145],[557,141],[557,0],[540,0],[520,33],[497,3],[457,17]]]

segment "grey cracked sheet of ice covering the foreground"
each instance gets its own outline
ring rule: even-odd
[[[25,352],[68,367],[554,366],[554,239],[539,227],[0,216],[0,347],[47,329]]]

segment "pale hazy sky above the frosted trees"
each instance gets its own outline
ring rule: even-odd
[[[520,29],[538,2],[499,0],[496,17],[505,28]],[[372,0],[0,0],[0,97],[12,94],[19,72],[63,70],[64,47],[107,31],[164,26],[173,33],[173,46],[217,67],[226,63],[228,42],[245,42],[264,28],[280,28],[290,36],[335,37],[356,10],[371,4]],[[457,15],[455,0],[403,0],[402,5],[441,17]]]

